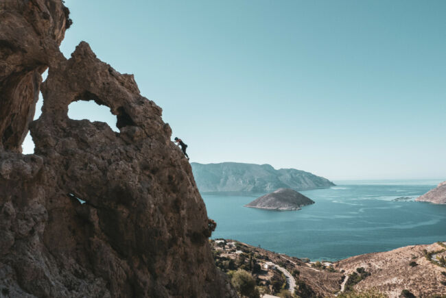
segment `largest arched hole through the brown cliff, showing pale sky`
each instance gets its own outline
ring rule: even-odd
[[[70,105],[68,106],[68,116],[70,119],[87,119],[91,122],[105,122],[108,124],[108,126],[110,126],[111,129],[113,129],[113,131],[119,132],[119,129],[116,126],[117,117],[110,112],[110,109],[106,107],[106,105],[98,105],[96,102],[98,102],[99,99],[95,98],[94,95],[89,95],[88,97],[84,98],[89,98],[91,100],[79,100],[70,103]]]

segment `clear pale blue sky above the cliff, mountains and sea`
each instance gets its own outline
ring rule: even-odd
[[[191,161],[446,179],[446,1],[66,5],[64,55],[85,40],[133,73]],[[85,103],[70,112],[110,116]]]

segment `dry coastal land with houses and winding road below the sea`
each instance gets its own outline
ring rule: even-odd
[[[293,293],[294,297],[305,298],[336,295],[446,297],[445,243],[367,253],[338,262],[310,262],[229,239],[211,240],[211,245],[215,263],[220,269],[226,273],[237,269],[249,271],[257,281],[260,294],[287,297],[284,294]],[[290,273],[294,283],[285,282],[285,276],[281,278],[278,269]],[[401,293],[406,293],[406,296]]]

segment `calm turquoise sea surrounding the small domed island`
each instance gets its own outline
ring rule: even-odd
[[[316,203],[299,211],[243,207],[260,195],[202,194],[217,222],[212,238],[277,253],[340,260],[362,253],[446,241],[446,205],[415,202],[440,181],[349,181],[301,191]],[[410,197],[408,201],[392,201]]]

